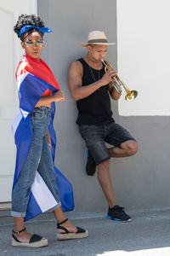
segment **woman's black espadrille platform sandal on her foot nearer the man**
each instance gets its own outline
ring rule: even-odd
[[[57,229],[65,230],[65,233],[59,233],[57,232],[57,239],[58,240],[67,240],[67,239],[77,239],[77,238],[85,238],[88,237],[88,230],[84,230],[82,228],[77,227],[77,232],[72,233],[69,230],[67,230],[65,227],[61,226],[61,224],[64,224],[68,218],[65,218],[62,222],[57,224]]]

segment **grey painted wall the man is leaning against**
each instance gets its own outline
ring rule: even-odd
[[[106,211],[97,176],[85,174],[85,145],[75,123],[77,108],[68,90],[67,71],[71,61],[86,54],[80,44],[86,43],[88,32],[104,30],[109,41],[116,42],[116,0],[39,0],[38,15],[54,30],[54,34],[45,36],[42,57],[66,96],[65,102],[57,104],[54,119],[58,138],[55,164],[72,183],[76,212]],[[116,63],[116,46],[109,47],[107,56]],[[112,108],[116,121],[139,142],[135,156],[111,160],[116,200],[130,209],[169,207],[169,117],[125,118],[117,114],[116,102],[112,102]]]

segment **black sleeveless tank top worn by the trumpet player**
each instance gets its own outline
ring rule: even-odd
[[[78,61],[82,63],[83,67],[82,86],[93,84],[105,74],[105,67],[96,70],[89,67],[83,59]],[[109,84],[104,85],[90,96],[77,101],[77,125],[105,125],[114,121],[108,88]]]

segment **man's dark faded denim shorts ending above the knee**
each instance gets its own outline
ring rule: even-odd
[[[128,140],[135,141],[126,129],[114,122],[109,125],[81,125],[79,131],[96,165],[111,158],[105,143],[120,147]]]

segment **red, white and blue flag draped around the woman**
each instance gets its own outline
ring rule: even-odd
[[[46,90],[51,90],[52,93],[59,90],[59,84],[54,78],[54,74],[49,69],[48,65],[40,59],[37,61],[29,55],[24,55],[19,63],[16,71],[16,80],[19,91],[20,109],[16,113],[12,131],[17,147],[16,166],[14,172],[14,185],[20,175],[22,166],[26,160],[26,156],[31,148],[32,128],[29,113],[37,105],[42,94]],[[52,141],[52,157],[54,160],[56,136],[53,127],[55,113],[55,104],[52,102],[51,119],[48,125]],[[59,172],[54,166],[56,172],[56,185],[59,191],[61,207],[64,212],[71,211],[74,208],[73,192],[71,183],[65,176]],[[26,209],[25,220],[36,217],[38,214],[45,212],[57,205],[54,196],[51,194],[42,177],[36,172],[34,183],[31,186],[31,194]]]

